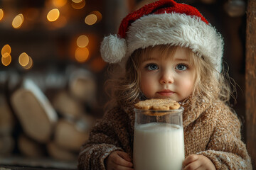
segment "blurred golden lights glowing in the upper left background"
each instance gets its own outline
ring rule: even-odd
[[[69,3],[68,3],[69,2]],[[74,9],[81,9],[85,7],[85,0],[50,0],[46,1],[46,6],[44,7],[44,11],[46,11],[46,19],[48,23],[52,24],[52,28],[62,28],[68,22],[67,14],[63,14],[65,11],[64,8],[72,7]],[[11,26],[15,29],[20,29],[23,27],[23,23],[29,23],[36,20],[36,16],[38,16],[40,12],[36,10],[36,8],[27,8],[23,13],[18,13],[11,22]],[[0,8],[0,22],[5,21],[5,11],[4,8]],[[88,26],[92,26],[95,23],[101,21],[102,14],[99,11],[92,11],[87,16],[85,16],[85,24]],[[50,28],[49,28],[50,29]],[[77,62],[86,62],[90,57],[90,51],[87,47],[89,44],[89,38],[87,35],[78,35],[76,40],[76,50],[74,54],[74,58]],[[11,47],[6,44],[2,47],[1,50],[1,64],[4,66],[9,66],[12,62],[11,57]],[[33,67],[33,60],[26,52],[21,53],[18,57],[18,64],[24,69],[31,69]]]

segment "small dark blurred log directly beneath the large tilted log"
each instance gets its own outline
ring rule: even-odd
[[[46,154],[43,145],[23,134],[18,137],[18,149],[26,157],[43,157]]]

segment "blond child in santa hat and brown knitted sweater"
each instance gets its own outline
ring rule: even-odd
[[[122,76],[108,81],[114,106],[82,146],[79,169],[133,169],[134,103],[146,98],[183,106],[183,169],[252,169],[240,121],[225,104],[223,38],[196,8],[173,0],[148,4],[123,19],[101,53]]]

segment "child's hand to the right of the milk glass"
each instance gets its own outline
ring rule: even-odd
[[[203,155],[191,154],[183,161],[183,170],[216,170],[213,162]]]

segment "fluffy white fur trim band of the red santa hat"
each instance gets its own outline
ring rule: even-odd
[[[129,27],[126,39],[127,53],[122,60],[124,63],[132,52],[139,48],[180,45],[191,48],[221,72],[223,38],[213,26],[207,25],[196,16],[181,13],[143,16]]]

